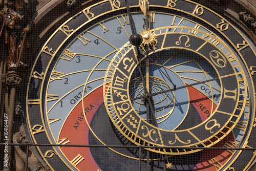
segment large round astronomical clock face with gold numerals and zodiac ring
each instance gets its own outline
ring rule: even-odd
[[[129,1],[132,23],[125,1],[83,9],[36,56],[26,97],[34,143],[89,145],[38,146],[52,170],[245,170],[253,161],[254,151],[237,150],[255,148],[252,42],[200,4],[149,3],[145,17]]]

